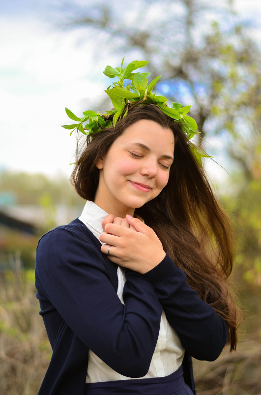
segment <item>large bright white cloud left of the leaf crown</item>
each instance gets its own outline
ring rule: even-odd
[[[46,32],[32,20],[0,21],[0,36],[6,37],[0,49],[1,165],[45,174],[71,172],[75,139],[58,127],[71,123],[64,108],[81,111],[83,97],[91,108],[106,88],[87,78],[92,55],[75,45],[79,34]]]

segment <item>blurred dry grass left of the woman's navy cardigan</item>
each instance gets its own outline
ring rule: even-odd
[[[34,273],[0,274],[0,394],[36,395],[51,347],[35,297]]]

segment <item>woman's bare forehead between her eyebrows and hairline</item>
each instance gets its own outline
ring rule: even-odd
[[[173,154],[174,133],[165,129],[155,121],[141,119],[128,126],[117,138],[118,144],[143,144],[150,150],[164,151],[162,154]]]

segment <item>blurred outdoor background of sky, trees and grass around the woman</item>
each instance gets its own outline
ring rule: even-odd
[[[198,394],[261,394],[261,3],[255,0],[0,2],[0,393],[37,394],[51,357],[35,298],[39,237],[80,215],[76,140],[59,125],[106,110],[106,65],[148,60],[157,93],[192,105],[209,179],[229,212],[235,353],[194,361]],[[149,78],[150,78],[149,77]]]

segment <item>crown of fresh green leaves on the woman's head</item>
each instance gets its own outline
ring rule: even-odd
[[[120,67],[113,68],[111,66],[106,66],[103,71],[109,78],[118,78],[118,81],[113,82],[113,84],[105,90],[114,108],[106,111],[105,114],[87,110],[83,112],[84,116],[81,118],[76,116],[68,108],[65,108],[68,117],[78,123],[61,125],[63,128],[72,130],[70,134],[76,130],[84,135],[92,135],[100,132],[104,128],[108,128],[112,125],[115,126],[118,120],[125,118],[128,111],[137,105],[154,104],[165,114],[173,118],[175,122],[180,123],[181,129],[188,140],[192,139],[195,134],[200,133],[195,119],[187,115],[191,106],[181,107],[180,103],[172,103],[172,107],[169,107],[167,105],[168,99],[165,96],[158,96],[156,93],[152,93],[152,89],[161,78],[161,75],[155,77],[148,84],[147,77],[150,75],[150,72],[134,72],[139,68],[145,67],[148,63],[147,61],[134,60],[124,68],[123,62],[124,58],[122,59]],[[128,80],[128,83],[125,85],[124,80]],[[191,144],[190,148],[196,160],[202,166],[202,157],[209,157],[209,155],[194,144]]]

